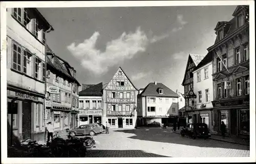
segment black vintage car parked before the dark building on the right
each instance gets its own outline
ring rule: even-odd
[[[208,130],[207,124],[205,123],[196,123],[188,124],[186,128],[182,128],[180,131],[181,135],[187,135],[192,139],[204,138],[207,139],[211,136],[211,133]]]

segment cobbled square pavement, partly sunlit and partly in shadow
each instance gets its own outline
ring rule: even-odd
[[[60,134],[65,135],[67,137],[67,133]],[[248,157],[250,154],[246,145],[193,140],[171,128],[110,129],[109,134],[93,138],[96,147],[86,157]]]

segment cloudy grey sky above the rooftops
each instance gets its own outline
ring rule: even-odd
[[[82,84],[108,83],[120,66],[137,89],[157,81],[183,93],[188,54],[207,54],[236,6],[38,8],[47,43]]]

